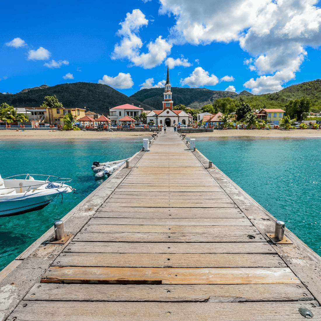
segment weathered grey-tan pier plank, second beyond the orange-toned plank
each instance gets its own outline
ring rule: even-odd
[[[265,253],[275,254],[268,243],[148,243],[72,242],[65,252],[78,253]]]

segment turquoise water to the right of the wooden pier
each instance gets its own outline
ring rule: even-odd
[[[321,139],[199,139],[197,148],[321,255]]]

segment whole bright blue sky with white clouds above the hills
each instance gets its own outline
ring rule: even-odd
[[[100,81],[131,95],[162,86],[166,57],[175,59],[172,86],[278,91],[320,78],[319,6],[313,0],[6,1],[0,92]]]

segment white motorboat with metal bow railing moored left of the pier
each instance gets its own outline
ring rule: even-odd
[[[0,216],[22,214],[47,206],[56,196],[75,190],[65,184],[71,180],[41,174],[20,174],[6,178],[0,175]]]

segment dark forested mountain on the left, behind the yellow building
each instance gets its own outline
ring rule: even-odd
[[[151,109],[140,101],[128,97],[107,85],[92,82],[64,83],[56,86],[42,85],[34,88],[23,89],[16,94],[0,93],[0,104],[3,102],[14,107],[40,106],[45,96],[56,95],[59,101],[68,108],[83,108],[100,114],[109,112],[109,108],[132,104],[141,105],[145,109]]]

